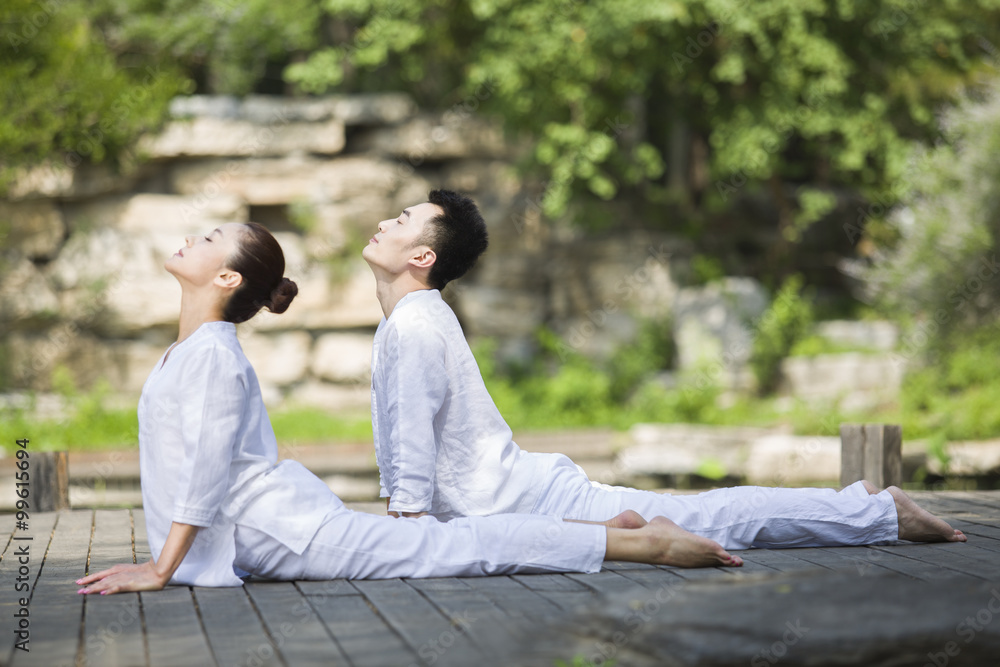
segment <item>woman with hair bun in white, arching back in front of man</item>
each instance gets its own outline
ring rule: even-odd
[[[532,515],[398,521],[353,512],[295,461],[277,461],[260,387],[236,324],[282,313],[298,288],[273,236],[228,223],[165,268],[180,327],[139,401],[140,474],[152,559],[79,579],[79,593],[238,586],[273,579],[594,572],[601,561],[738,566],[718,544],[634,513],[604,525]]]

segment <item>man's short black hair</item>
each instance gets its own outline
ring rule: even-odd
[[[427,201],[442,211],[427,221],[420,239],[437,255],[427,281],[435,289],[444,289],[475,266],[490,240],[479,207],[470,198],[451,190],[431,190]]]

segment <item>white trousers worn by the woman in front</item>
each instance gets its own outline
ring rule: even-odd
[[[607,547],[603,526],[552,516],[395,519],[348,510],[332,492],[330,508],[301,554],[237,521],[234,564],[283,580],[598,572]]]

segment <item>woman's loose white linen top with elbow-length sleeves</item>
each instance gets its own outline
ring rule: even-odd
[[[234,324],[206,322],[171,346],[146,380],[138,412],[153,559],[171,522],[202,527],[170,583],[241,585],[233,569],[236,523],[302,553],[329,509],[313,499],[330,493],[301,464],[276,464],[274,431]]]

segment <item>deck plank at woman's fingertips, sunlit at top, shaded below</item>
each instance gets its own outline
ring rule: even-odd
[[[47,552],[32,547],[32,561],[42,562],[31,595],[31,651],[15,651],[12,665],[73,664],[80,646],[84,597],[75,581],[86,570],[93,512],[56,514]],[[36,544],[37,546],[41,546]]]

